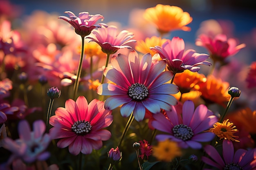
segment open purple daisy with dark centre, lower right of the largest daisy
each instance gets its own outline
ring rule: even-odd
[[[194,111],[194,104],[191,100],[184,102],[182,107],[182,119],[172,106],[171,111],[166,111],[167,119],[162,113],[153,115],[155,121],[152,126],[168,134],[157,135],[156,139],[164,141],[170,139],[179,143],[181,148],[191,147],[193,149],[202,148],[200,142],[211,141],[215,135],[208,130],[218,121],[218,118],[203,104]]]

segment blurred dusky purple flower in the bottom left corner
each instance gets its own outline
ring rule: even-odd
[[[42,120],[34,121],[31,131],[29,123],[26,120],[18,124],[19,139],[13,141],[6,137],[3,141],[3,147],[13,152],[9,158],[9,163],[15,159],[22,159],[26,163],[32,163],[36,160],[46,160],[50,153],[45,151],[52,140],[45,132],[45,123]]]

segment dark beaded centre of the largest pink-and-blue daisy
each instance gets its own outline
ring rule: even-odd
[[[141,101],[148,96],[148,88],[144,84],[132,84],[128,88],[128,95],[134,100]]]

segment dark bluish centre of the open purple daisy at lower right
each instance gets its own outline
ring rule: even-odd
[[[184,124],[179,124],[173,127],[173,135],[178,139],[188,141],[193,137],[194,133],[190,127]]]

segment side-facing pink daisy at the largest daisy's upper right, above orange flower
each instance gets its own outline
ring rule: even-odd
[[[200,70],[198,65],[211,66],[211,63],[205,61],[209,58],[207,54],[196,53],[189,49],[184,52],[185,43],[182,38],[173,37],[167,40],[162,46],[150,47],[151,50],[159,53],[162,59],[167,60],[168,70],[175,73],[182,73],[184,70],[197,72]]]

